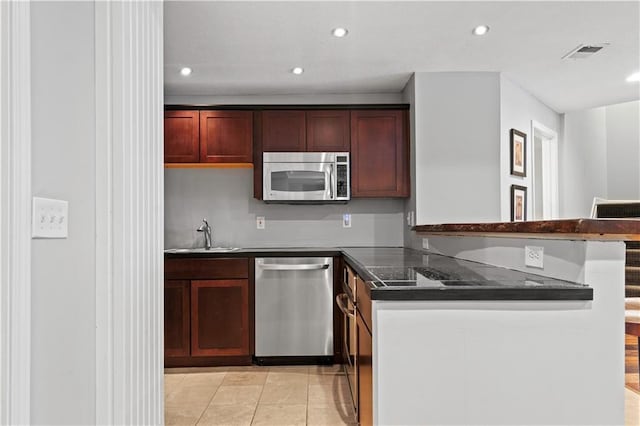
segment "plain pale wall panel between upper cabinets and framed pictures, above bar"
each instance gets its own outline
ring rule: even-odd
[[[415,73],[416,223],[500,219],[500,75]]]

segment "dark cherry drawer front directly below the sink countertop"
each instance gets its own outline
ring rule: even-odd
[[[247,258],[165,259],[164,277],[168,280],[249,278]]]

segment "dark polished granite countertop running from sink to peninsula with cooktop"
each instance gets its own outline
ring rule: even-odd
[[[403,247],[274,247],[170,253],[166,258],[340,256],[365,280],[372,300],[593,300],[593,289]]]

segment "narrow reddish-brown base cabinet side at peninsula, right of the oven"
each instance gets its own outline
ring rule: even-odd
[[[356,278],[358,422],[373,424],[373,339],[371,334],[371,297],[365,282]]]

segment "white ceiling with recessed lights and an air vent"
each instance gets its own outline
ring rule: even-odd
[[[640,99],[625,81],[640,71],[637,1],[168,1],[164,28],[166,95],[399,93],[413,72],[499,71],[557,112]]]

